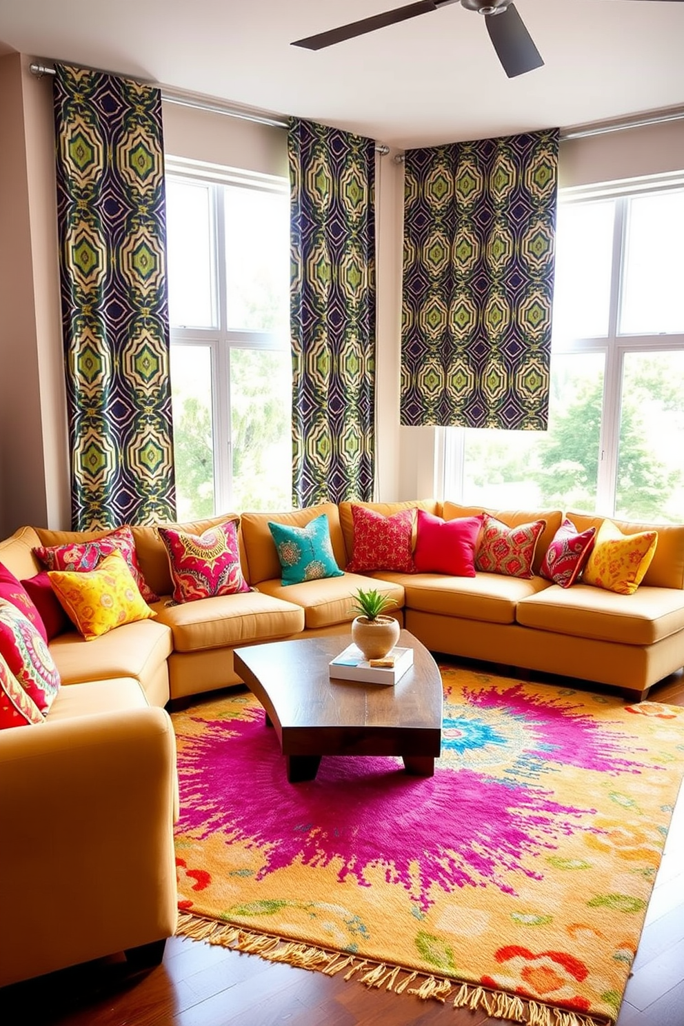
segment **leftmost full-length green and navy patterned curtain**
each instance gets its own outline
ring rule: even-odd
[[[161,94],[54,76],[72,523],[175,517]]]

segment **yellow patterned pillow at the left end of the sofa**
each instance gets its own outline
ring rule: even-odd
[[[121,624],[157,616],[140,595],[120,552],[107,556],[94,570],[50,570],[48,577],[86,641]]]

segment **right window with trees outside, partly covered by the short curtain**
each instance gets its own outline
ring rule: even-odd
[[[684,188],[561,193],[549,430],[445,429],[444,494],[684,520]]]

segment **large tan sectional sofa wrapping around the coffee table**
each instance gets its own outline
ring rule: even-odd
[[[419,506],[445,519],[481,512],[433,500],[363,505],[384,515]],[[269,520],[301,526],[325,513],[337,564],[351,558],[352,504],[321,504],[243,513],[240,558],[255,590],[178,605],[169,604],[168,559],[156,529],[133,527],[140,568],[161,596],[157,616],[91,641],[76,631],[55,637],[50,652],[68,686],[44,724],[0,732],[0,874],[11,881],[22,867],[35,884],[5,889],[12,926],[0,936],[0,985],[121,949],[160,952],[156,945],[175,925],[177,801],[163,707],[239,682],[235,647],[346,633],[358,587],[395,598],[397,619],[436,653],[616,685],[633,699],[684,665],[684,525],[655,526],[654,558],[627,596],[582,584],[564,590],[538,576],[560,510],[490,512],[511,526],[546,520],[531,579],[377,570],[283,587]],[[568,515],[579,530],[601,522]],[[184,527],[201,534],[225,519]],[[615,522],[625,532],[652,526]],[[0,562],[27,579],[40,569],[36,546],[102,534],[23,527],[0,542]]]

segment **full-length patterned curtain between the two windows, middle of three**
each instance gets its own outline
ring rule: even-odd
[[[370,500],[375,144],[292,119],[292,498]]]

